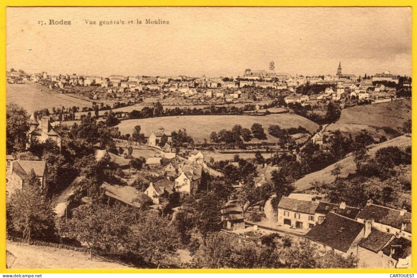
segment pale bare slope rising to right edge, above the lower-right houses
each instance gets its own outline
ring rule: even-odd
[[[392,140],[388,140],[384,143],[380,143],[378,145],[375,145],[374,147],[370,148],[368,153],[371,157],[375,155],[377,150],[380,148],[385,148],[388,146],[397,146],[399,148],[404,148],[411,145],[411,138],[405,135],[399,136],[397,138],[394,138]],[[353,161],[353,156],[348,154],[346,158],[340,160],[337,162],[339,165],[343,166],[343,169],[341,170],[341,177],[347,177],[349,173],[354,173],[356,171],[356,165]],[[334,169],[334,164],[324,168],[323,170],[308,174],[304,176],[303,178],[297,180],[294,183],[295,190],[294,192],[299,192],[302,190],[309,189],[311,187],[311,183],[315,180],[319,182],[325,182],[325,183],[331,183],[335,180],[335,177],[331,175],[332,170]]]

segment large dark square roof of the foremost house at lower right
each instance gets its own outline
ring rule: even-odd
[[[363,228],[362,223],[330,212],[323,223],[311,228],[306,238],[347,252]]]

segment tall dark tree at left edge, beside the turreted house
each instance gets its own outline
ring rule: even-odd
[[[6,107],[6,150],[21,152],[28,143],[29,122],[26,111],[15,103]]]

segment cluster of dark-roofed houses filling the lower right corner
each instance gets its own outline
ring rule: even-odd
[[[411,263],[411,213],[375,205],[360,209],[329,203],[324,196],[290,194],[278,205],[277,223],[302,231],[323,252],[357,258],[363,268]]]

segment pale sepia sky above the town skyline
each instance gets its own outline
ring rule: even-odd
[[[7,68],[28,73],[411,75],[411,8],[7,8]],[[38,25],[43,20],[71,25]],[[145,19],[169,25],[146,25]],[[97,22],[89,25],[85,20]],[[100,20],[125,25],[99,26]],[[128,24],[133,20],[134,24]],[[142,24],[137,25],[136,20]]]

